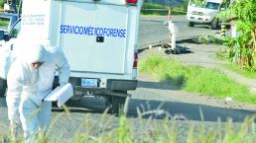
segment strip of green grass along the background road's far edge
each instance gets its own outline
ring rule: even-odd
[[[144,2],[141,10],[142,15],[167,16],[170,7],[157,3]],[[172,7],[172,15],[186,15],[187,7]]]

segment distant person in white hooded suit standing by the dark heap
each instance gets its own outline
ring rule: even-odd
[[[178,28],[176,27],[176,25],[172,21],[171,10],[169,10],[169,13],[168,13],[168,29],[170,31],[169,36],[172,41],[172,47],[170,49],[172,51],[174,51],[175,53],[180,53],[179,48],[176,47],[176,37],[177,37],[179,31],[178,31]]]

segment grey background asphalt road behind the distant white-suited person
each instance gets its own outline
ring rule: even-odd
[[[158,45],[169,41],[168,26],[165,26],[167,17],[164,16],[141,16],[139,30],[139,49],[147,48],[149,45]],[[204,34],[214,35],[218,30],[209,30],[206,25],[195,25],[188,27],[186,16],[173,16],[173,22],[179,29],[177,42],[190,39],[193,36]]]

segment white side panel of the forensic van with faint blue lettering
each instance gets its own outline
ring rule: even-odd
[[[21,32],[22,38],[49,39],[52,1],[23,1]]]

